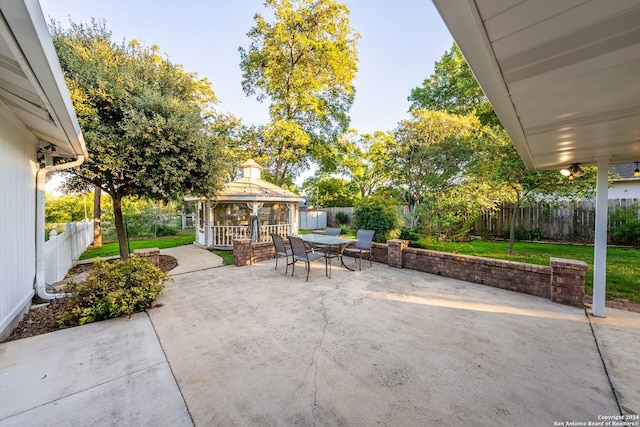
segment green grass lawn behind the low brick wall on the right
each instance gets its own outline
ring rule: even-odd
[[[554,243],[515,242],[513,255],[507,254],[509,242],[473,240],[464,243],[440,243],[422,239],[422,247],[465,255],[549,265],[549,258],[566,258],[588,264],[585,291],[593,294],[593,246]],[[607,299],[640,302],[640,249],[607,248]]]

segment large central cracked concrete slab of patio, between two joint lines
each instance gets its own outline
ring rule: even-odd
[[[271,262],[195,273],[150,312],[197,425],[553,425],[619,411],[584,310],[380,264],[329,280],[320,264],[308,283]]]

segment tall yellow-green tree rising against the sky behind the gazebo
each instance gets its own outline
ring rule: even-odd
[[[273,22],[256,14],[240,48],[242,88],[271,102],[260,142],[276,184],[327,158],[327,146],[349,124],[359,35],[349,10],[333,0],[266,0]]]

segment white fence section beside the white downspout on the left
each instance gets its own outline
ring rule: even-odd
[[[70,222],[66,230],[58,234],[52,230],[44,243],[44,281],[50,285],[64,279],[73,261],[93,243],[93,220]]]

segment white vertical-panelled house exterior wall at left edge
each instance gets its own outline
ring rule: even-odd
[[[33,296],[37,143],[0,105],[0,340],[28,310]]]

